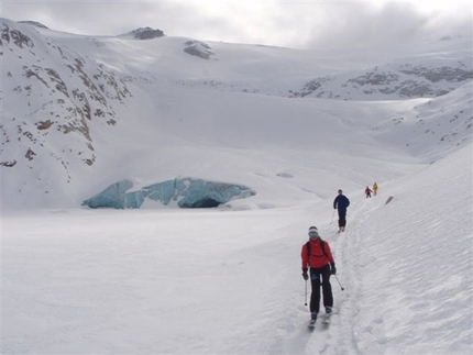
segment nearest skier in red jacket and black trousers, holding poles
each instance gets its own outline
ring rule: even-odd
[[[319,235],[317,226],[309,228],[309,241],[302,245],[300,252],[302,258],[302,277],[309,279],[310,274],[310,326],[315,325],[320,310],[320,285],[322,285],[323,307],[326,308],[326,319],[330,317],[333,308],[332,287],[330,275],[336,275],[336,262],[333,260],[330,245]]]

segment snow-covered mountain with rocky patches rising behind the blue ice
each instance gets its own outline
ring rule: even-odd
[[[363,64],[152,29],[91,37],[3,19],[4,206],[80,206],[123,178],[219,180],[215,170],[228,168],[237,169],[230,182],[252,187],[228,162],[231,155],[223,157],[226,148],[264,145],[314,157],[330,147],[343,157],[383,159],[387,142],[391,153],[443,157],[471,140],[470,40],[442,38],[388,62],[372,53]],[[386,62],[373,66],[378,57]],[[346,142],[353,127],[359,132]],[[371,152],[356,149],[366,141]],[[215,142],[222,157],[212,171],[182,160],[185,147]],[[190,151],[194,162],[206,160]],[[258,162],[248,158],[254,170]],[[169,162],[183,163],[173,168]]]

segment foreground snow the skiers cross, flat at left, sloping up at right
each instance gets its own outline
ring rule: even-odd
[[[352,201],[257,210],[6,212],[4,354],[470,354],[471,145]],[[362,167],[361,167],[362,168]],[[385,204],[389,196],[394,199]],[[338,264],[307,330],[299,253]]]

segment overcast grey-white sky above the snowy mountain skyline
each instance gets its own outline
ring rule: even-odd
[[[471,1],[3,0],[1,16],[56,31],[168,36],[292,48],[396,46],[472,35]]]

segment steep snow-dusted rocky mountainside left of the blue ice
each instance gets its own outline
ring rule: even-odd
[[[120,121],[113,104],[132,97],[125,78],[34,30],[19,30],[13,22],[1,23],[0,47],[3,88],[12,87],[8,100],[18,102],[8,106],[0,125],[0,165],[33,168],[33,160],[52,158],[67,179],[73,162],[92,165],[97,158],[92,126],[111,127]],[[67,135],[78,144],[51,153],[48,146],[56,135]]]

